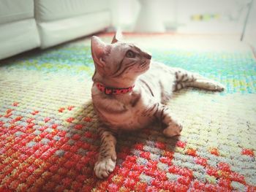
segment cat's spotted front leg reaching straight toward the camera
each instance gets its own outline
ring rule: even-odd
[[[94,172],[100,179],[108,177],[116,166],[116,133],[108,128],[99,127],[101,145]]]

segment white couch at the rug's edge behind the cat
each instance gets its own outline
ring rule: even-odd
[[[110,0],[0,0],[0,59],[110,25]]]

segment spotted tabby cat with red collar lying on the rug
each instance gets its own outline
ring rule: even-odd
[[[101,179],[116,166],[119,130],[144,128],[160,120],[166,137],[180,135],[181,123],[165,105],[173,91],[187,87],[224,91],[219,82],[151,61],[150,54],[116,36],[111,44],[91,37],[91,55],[95,66],[91,96],[101,137],[94,172]]]

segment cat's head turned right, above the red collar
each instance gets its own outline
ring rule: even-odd
[[[151,55],[130,43],[119,42],[116,36],[111,44],[99,37],[91,37],[91,55],[94,59],[93,80],[108,86],[125,86],[149,69]],[[119,85],[125,84],[125,85]]]

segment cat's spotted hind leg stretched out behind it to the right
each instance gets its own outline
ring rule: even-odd
[[[200,74],[187,72],[184,69],[176,69],[176,82],[173,85],[173,91],[178,91],[181,88],[201,88],[208,91],[224,91],[225,87],[219,82],[210,80]]]

